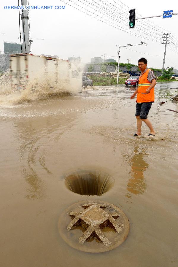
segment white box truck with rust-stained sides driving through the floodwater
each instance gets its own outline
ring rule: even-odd
[[[68,60],[33,54],[14,54],[9,57],[13,90],[46,86],[53,91],[82,91],[82,74]]]

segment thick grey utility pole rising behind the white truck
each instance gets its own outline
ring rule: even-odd
[[[21,0],[22,6],[27,6],[27,0]],[[23,29],[23,53],[30,53],[30,42],[29,42],[29,28],[28,28],[28,10],[22,9],[22,29]]]

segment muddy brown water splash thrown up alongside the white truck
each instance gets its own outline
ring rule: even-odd
[[[14,107],[18,104],[26,104],[30,101],[58,98],[61,96],[75,95],[80,90],[80,82],[82,73],[78,79],[58,80],[44,74],[36,74],[33,80],[26,84],[26,89],[12,89],[9,71],[0,76],[0,107]]]

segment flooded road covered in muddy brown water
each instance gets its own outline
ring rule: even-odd
[[[155,138],[144,124],[133,136],[134,88],[124,85],[0,108],[0,266],[178,265],[178,114],[167,110],[178,104],[162,98],[170,88],[178,82],[156,85]],[[114,186],[101,196],[73,193],[64,177],[80,169],[104,171]],[[58,232],[64,209],[93,199],[130,221],[128,238],[109,252],[81,252]]]

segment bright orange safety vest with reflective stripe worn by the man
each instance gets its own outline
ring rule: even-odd
[[[154,102],[155,101],[155,92],[154,87],[150,90],[150,93],[147,94],[146,89],[150,86],[151,82],[148,81],[148,72],[150,69],[147,69],[146,72],[142,74],[139,78],[138,93],[136,102],[145,103],[145,102]]]

